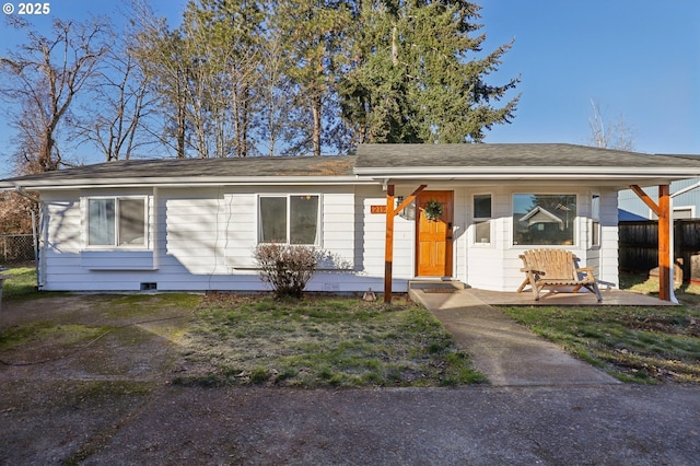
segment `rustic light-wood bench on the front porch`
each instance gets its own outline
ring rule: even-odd
[[[535,301],[539,301],[539,292],[558,287],[573,287],[576,293],[582,287],[595,293],[598,302],[603,301],[600,290],[593,277],[593,267],[576,267],[576,256],[565,249],[530,249],[521,255],[522,272],[527,277],[517,289],[521,293],[529,284]]]

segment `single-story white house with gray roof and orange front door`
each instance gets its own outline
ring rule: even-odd
[[[571,249],[617,287],[618,190],[695,176],[700,160],[570,144],[369,144],[345,156],[118,161],[0,189],[40,197],[43,290],[264,290],[253,252],[276,241],[329,253],[313,291],[381,290],[392,269],[397,292],[423,278],[514,291],[518,256],[535,247]]]

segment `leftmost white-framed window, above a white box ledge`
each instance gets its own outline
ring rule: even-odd
[[[90,246],[145,246],[145,198],[88,199]]]

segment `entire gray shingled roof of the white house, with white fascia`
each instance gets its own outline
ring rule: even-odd
[[[116,161],[20,176],[0,189],[468,182],[652,186],[700,176],[700,156],[561,143],[362,144],[354,155]]]

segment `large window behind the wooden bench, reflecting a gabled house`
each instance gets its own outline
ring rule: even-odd
[[[573,244],[575,220],[575,195],[513,196],[514,245]]]

